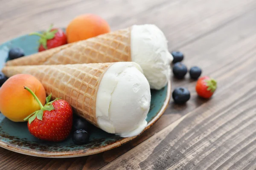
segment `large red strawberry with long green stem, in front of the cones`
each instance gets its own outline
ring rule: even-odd
[[[66,139],[73,123],[73,111],[71,106],[64,100],[55,99],[50,102],[52,94],[47,96],[46,105],[42,105],[37,96],[27,87],[35,100],[40,105],[40,110],[27,116],[29,132],[42,140],[59,142]]]

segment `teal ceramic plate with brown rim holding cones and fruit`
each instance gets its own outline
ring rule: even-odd
[[[26,55],[33,54],[37,52],[37,41],[38,37],[36,36],[24,35],[0,45],[1,67],[7,60],[9,48],[20,47]],[[151,106],[147,117],[148,125],[145,130],[154,125],[164,113],[169,104],[170,96],[170,82],[161,90],[151,90]],[[44,142],[29,133],[26,122],[12,122],[0,113],[0,147],[31,156],[51,158],[87,156],[118,147],[136,137],[122,138],[93,127],[90,141],[85,145],[73,144],[71,137],[58,143]]]

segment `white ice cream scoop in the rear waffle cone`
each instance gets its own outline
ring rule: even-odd
[[[131,27],[131,60],[141,66],[153,89],[163,88],[170,79],[173,57],[165,35],[155,25]]]

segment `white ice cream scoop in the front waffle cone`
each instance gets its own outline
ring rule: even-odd
[[[139,135],[151,101],[150,86],[135,62],[116,62],[105,72],[96,96],[97,124],[122,137]]]

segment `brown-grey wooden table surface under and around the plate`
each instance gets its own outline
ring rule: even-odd
[[[169,50],[186,54],[218,80],[210,100],[195,82],[172,79],[172,89],[189,88],[186,105],[172,100],[165,114],[134,141],[93,156],[47,159],[0,148],[1,170],[255,170],[256,0],[0,0],[0,42],[50,23],[65,27],[76,15],[95,13],[112,30],[154,23]]]

